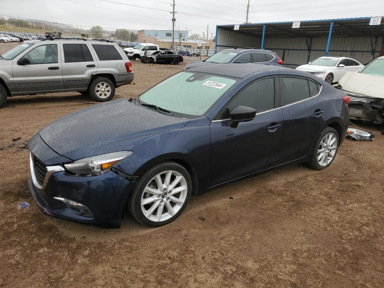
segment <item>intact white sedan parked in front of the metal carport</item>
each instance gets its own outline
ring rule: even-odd
[[[312,73],[331,84],[338,82],[345,73],[360,72],[363,68],[364,65],[352,58],[324,56],[296,69]]]

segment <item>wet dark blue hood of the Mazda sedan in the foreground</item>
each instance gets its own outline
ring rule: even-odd
[[[188,121],[121,99],[70,113],[45,126],[39,135],[56,153],[78,160],[122,151],[160,132],[182,128]]]

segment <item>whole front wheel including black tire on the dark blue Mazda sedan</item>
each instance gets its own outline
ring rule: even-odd
[[[170,176],[167,176],[169,174]],[[168,181],[167,177],[170,177]],[[167,187],[164,188],[164,186],[157,189],[158,181],[161,181],[160,185],[171,187],[173,182],[179,179],[179,177],[179,182],[172,189],[167,190]],[[164,184],[167,182],[168,184]],[[182,189],[185,186],[186,189]],[[178,188],[179,190],[174,193],[174,189]],[[191,193],[192,181],[188,171],[176,162],[162,162],[147,170],[139,178],[136,187],[131,195],[129,195],[127,206],[132,217],[142,225],[159,227],[179,217],[187,206]],[[148,199],[150,202],[147,204],[142,203],[145,199]],[[177,203],[173,200],[176,200]],[[161,210],[159,210],[160,207]],[[172,209],[172,212],[170,212],[168,207]]]

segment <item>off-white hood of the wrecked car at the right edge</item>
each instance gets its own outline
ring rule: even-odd
[[[384,98],[384,76],[347,72],[339,80],[345,91],[368,97]]]

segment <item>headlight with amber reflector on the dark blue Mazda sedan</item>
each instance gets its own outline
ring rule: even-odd
[[[93,176],[106,173],[122,159],[130,156],[133,151],[119,151],[92,156],[64,164],[65,168],[75,175]]]

